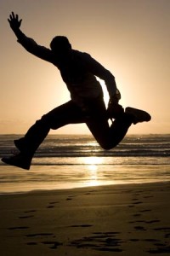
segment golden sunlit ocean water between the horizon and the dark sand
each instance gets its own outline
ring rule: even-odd
[[[0,135],[0,157],[12,154],[14,139]],[[30,171],[0,162],[0,194],[39,189],[170,181],[170,134],[127,135],[106,151],[90,135],[48,135]]]

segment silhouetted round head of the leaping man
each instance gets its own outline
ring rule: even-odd
[[[60,55],[65,55],[71,50],[71,44],[68,38],[64,36],[57,36],[52,39],[50,43],[50,48],[56,53]]]

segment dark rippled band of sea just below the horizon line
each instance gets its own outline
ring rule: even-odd
[[[0,156],[11,155],[17,136],[0,135]],[[19,136],[18,136],[19,137]],[[93,137],[49,135],[35,157],[169,157],[170,135],[127,136],[116,148],[104,150]]]

